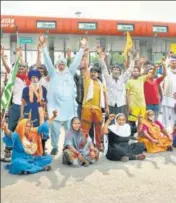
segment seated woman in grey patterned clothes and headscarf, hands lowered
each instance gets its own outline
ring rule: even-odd
[[[87,131],[81,129],[79,118],[71,121],[71,130],[66,133],[63,152],[63,164],[89,166],[99,159],[99,152],[94,147]]]

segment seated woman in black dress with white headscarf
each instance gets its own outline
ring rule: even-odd
[[[115,124],[110,125],[112,120]],[[122,113],[109,115],[103,126],[103,133],[108,135],[108,151],[106,157],[112,161],[144,160],[144,145],[130,143],[131,128],[126,123],[126,116]]]

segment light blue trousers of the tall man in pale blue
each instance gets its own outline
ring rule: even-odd
[[[58,149],[58,141],[60,136],[60,128],[62,121],[53,121],[51,124],[51,146]],[[65,131],[70,129],[71,120],[63,121]]]

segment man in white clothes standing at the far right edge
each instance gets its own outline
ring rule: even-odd
[[[170,68],[163,84],[163,125],[173,129],[176,122],[176,55],[170,59]]]

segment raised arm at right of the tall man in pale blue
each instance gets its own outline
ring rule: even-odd
[[[83,38],[81,41],[80,41],[80,50],[79,52],[76,54],[74,60],[73,60],[73,63],[70,65],[70,73],[74,76],[75,73],[76,73],[76,70],[77,68],[79,67],[80,63],[81,63],[81,60],[82,60],[82,57],[84,55],[84,49],[86,48],[87,46],[87,38]]]

